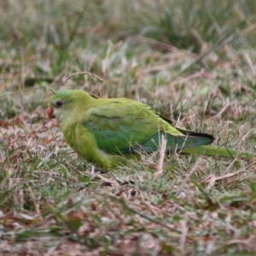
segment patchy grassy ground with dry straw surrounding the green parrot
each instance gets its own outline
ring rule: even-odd
[[[1,255],[254,255],[256,160],[143,155],[99,172],[45,113],[49,88],[146,102],[256,151],[252,1],[0,3]],[[78,71],[96,73],[64,79]],[[31,90],[39,88],[37,90]]]

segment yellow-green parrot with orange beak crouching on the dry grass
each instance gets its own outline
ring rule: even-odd
[[[214,140],[212,135],[175,127],[170,119],[131,99],[102,99],[84,90],[61,90],[52,96],[47,113],[60,121],[66,142],[79,155],[107,169],[120,165],[124,156],[158,150],[162,137],[166,138],[166,152],[237,154],[234,149],[208,145]]]

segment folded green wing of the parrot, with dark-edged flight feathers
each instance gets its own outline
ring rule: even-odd
[[[90,108],[84,127],[96,138],[106,153],[125,154],[138,150],[153,152],[160,148],[162,136],[166,151],[197,147],[212,143],[213,137],[176,128],[154,110],[131,100],[109,101]]]

